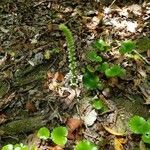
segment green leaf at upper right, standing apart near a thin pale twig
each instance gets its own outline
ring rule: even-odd
[[[119,49],[119,52],[121,54],[125,54],[125,53],[131,53],[133,51],[133,49],[135,48],[135,43],[131,40],[128,41],[124,41],[121,44],[121,47]]]

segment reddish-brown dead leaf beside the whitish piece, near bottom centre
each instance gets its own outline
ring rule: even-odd
[[[77,118],[70,118],[67,121],[67,126],[69,127],[70,131],[73,132],[77,128],[79,128],[82,125],[82,120]]]

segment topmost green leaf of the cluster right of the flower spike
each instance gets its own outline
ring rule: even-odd
[[[93,46],[93,48],[98,49],[103,52],[107,51],[110,47],[105,41],[103,41],[101,39],[93,42],[92,46]]]

